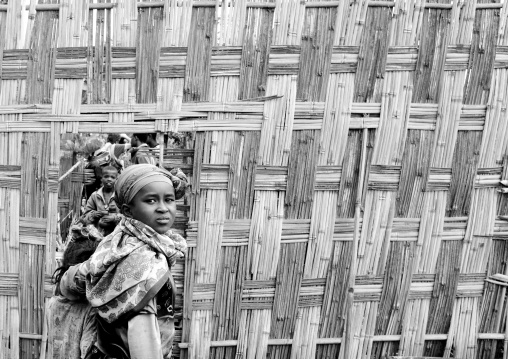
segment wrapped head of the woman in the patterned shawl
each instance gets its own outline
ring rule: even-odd
[[[176,216],[176,200],[185,195],[187,177],[179,169],[168,172],[149,165],[128,167],[116,181],[115,196],[121,212],[129,218],[167,232]]]

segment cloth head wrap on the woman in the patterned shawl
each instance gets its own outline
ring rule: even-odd
[[[129,204],[136,193],[151,182],[171,183],[175,189],[175,199],[182,198],[188,187],[187,176],[179,168],[168,172],[150,164],[132,165],[127,167],[116,180],[115,200],[118,207],[122,208],[122,205]]]

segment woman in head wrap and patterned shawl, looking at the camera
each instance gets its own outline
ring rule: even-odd
[[[132,359],[171,357],[175,286],[170,270],[187,244],[170,228],[175,200],[187,185],[180,170],[128,167],[115,184],[124,218],[79,269],[100,326],[117,336]]]

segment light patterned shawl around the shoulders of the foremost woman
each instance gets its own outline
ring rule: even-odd
[[[169,269],[187,250],[185,239],[171,230],[123,218],[90,258],[86,297],[107,322],[131,318],[155,297]]]

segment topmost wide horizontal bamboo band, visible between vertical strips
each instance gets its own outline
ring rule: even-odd
[[[430,46],[430,45],[426,45]],[[300,48],[295,46],[270,46],[268,55],[268,74],[271,75],[297,75],[299,72]],[[72,48],[71,48],[72,49]],[[77,47],[77,50],[83,48]],[[90,51],[94,52],[95,49],[101,50],[99,46],[91,48]],[[181,78],[185,73],[185,48],[179,48],[180,51],[168,50],[170,48],[162,48],[159,57],[159,77],[160,78]],[[335,48],[331,54],[331,62],[329,65],[330,73],[354,73],[357,70],[359,59],[363,55],[358,54],[358,48],[352,47],[338,47]],[[356,49],[356,50],[355,50]],[[408,50],[409,49],[409,50]],[[113,58],[110,61],[111,76],[113,79],[136,77],[136,51],[134,48],[130,49],[131,56],[119,56],[121,48],[115,47],[111,49]],[[454,71],[464,71],[468,69],[470,60],[474,54],[470,54],[470,47],[457,47],[448,46],[448,52],[439,58],[439,68],[444,70],[445,73]],[[506,68],[506,51],[503,47],[497,49],[490,49],[493,61],[490,65],[495,69]],[[77,58],[72,58],[71,55],[65,56],[65,50],[58,51],[55,65],[56,78],[83,78],[86,77],[87,58],[84,51],[79,51],[80,55]],[[384,71],[386,72],[406,72],[414,71],[417,65],[425,63],[418,61],[418,54],[415,47],[387,47],[387,56]],[[3,61],[3,78],[11,80],[21,80],[27,77],[27,73],[31,71],[31,67],[27,66],[25,60],[25,52],[5,51],[5,60]],[[21,58],[19,58],[21,57]],[[240,74],[241,68],[241,48],[238,46],[228,47],[225,49],[213,48],[210,63],[210,76],[226,76]],[[433,68],[438,68],[437,64]],[[426,73],[431,73],[428,70]],[[426,79],[426,77],[423,77]],[[434,88],[434,86],[432,86]]]

